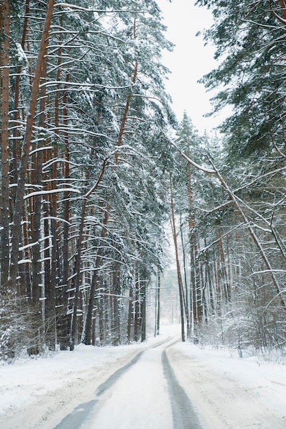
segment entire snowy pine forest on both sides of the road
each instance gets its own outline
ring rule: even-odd
[[[0,360],[144,341],[150,289],[158,333],[166,230],[182,341],[285,352],[285,1],[196,3],[211,136],[172,110],[156,1],[1,0]]]

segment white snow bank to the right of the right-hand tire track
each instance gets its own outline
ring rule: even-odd
[[[286,428],[286,362],[177,343],[171,363],[206,428]]]

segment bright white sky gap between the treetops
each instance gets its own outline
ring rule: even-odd
[[[203,84],[198,84],[205,73],[215,69],[214,47],[204,46],[202,36],[195,36],[211,26],[211,12],[195,6],[195,0],[157,0],[167,25],[166,37],[176,47],[164,51],[163,64],[171,71],[166,82],[167,92],[173,100],[173,109],[178,120],[186,110],[200,134],[210,132],[219,125],[219,117],[204,118],[211,112],[211,93],[206,93]]]

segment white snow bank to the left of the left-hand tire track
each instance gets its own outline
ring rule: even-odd
[[[0,428],[51,429],[137,352],[167,338],[168,330],[145,343],[78,345],[73,352],[0,366]]]

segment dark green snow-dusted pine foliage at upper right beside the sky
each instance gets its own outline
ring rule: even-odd
[[[222,125],[230,156],[247,157],[283,147],[285,26],[283,10],[272,2],[198,1],[213,10],[215,22],[204,36],[217,48],[216,70],[205,75],[207,88],[222,88],[215,110],[229,105],[233,114]],[[273,2],[274,3],[274,2]]]

